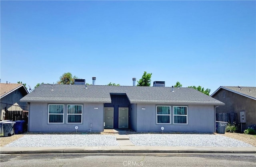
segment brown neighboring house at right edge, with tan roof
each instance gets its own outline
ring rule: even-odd
[[[256,87],[220,86],[211,97],[225,103],[225,106],[216,108],[216,113],[237,114],[238,123],[242,122],[242,131],[256,124]]]

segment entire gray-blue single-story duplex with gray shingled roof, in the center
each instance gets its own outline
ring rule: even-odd
[[[28,131],[215,132],[215,107],[224,103],[194,88],[42,84],[29,102]]]

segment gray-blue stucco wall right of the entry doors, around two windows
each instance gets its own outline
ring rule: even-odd
[[[165,132],[215,132],[214,106],[208,105],[181,105],[188,106],[188,124],[173,124],[173,104],[162,104],[171,106],[171,124],[156,123],[155,104],[137,104],[136,130],[138,132],[162,131]],[[180,105],[175,105],[180,106]],[[141,108],[146,108],[142,110]]]

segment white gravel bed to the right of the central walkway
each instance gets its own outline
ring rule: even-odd
[[[214,134],[130,134],[140,146],[254,147],[242,141]]]

